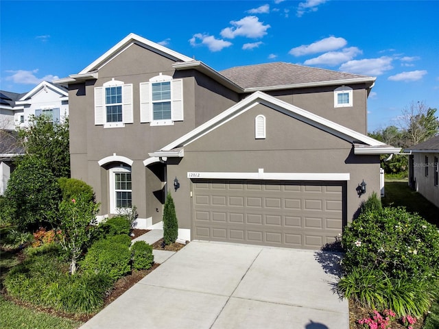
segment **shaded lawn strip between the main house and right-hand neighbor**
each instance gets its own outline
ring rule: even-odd
[[[439,227],[439,208],[412,190],[407,179],[385,180],[384,188],[385,197],[381,198],[383,206],[405,206],[407,211],[418,212],[429,223]]]

